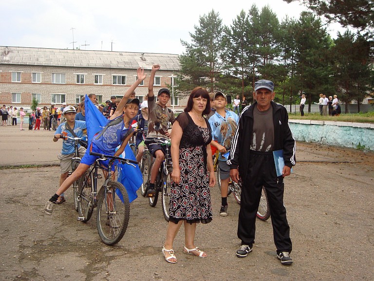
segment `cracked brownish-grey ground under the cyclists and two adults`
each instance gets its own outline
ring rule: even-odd
[[[0,127],[0,166],[58,164],[61,143],[52,136]],[[253,252],[236,258],[240,206],[229,196],[229,215],[220,217],[217,185],[213,221],[196,231],[196,245],[208,257],[183,254],[182,227],[173,247],[178,263],[169,264],[161,253],[167,222],[159,203],[152,208],[139,194],[125,236],[107,246],[95,211],[88,223],[76,221],[71,190],[52,216],[41,212],[56,191],[59,166],[2,167],[0,280],[374,280],[373,152],[298,142],[297,161],[284,196],[291,266],[276,258],[271,219],[257,221]]]

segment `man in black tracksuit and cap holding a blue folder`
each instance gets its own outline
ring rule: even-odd
[[[241,206],[238,222],[238,237],[242,240],[238,258],[252,251],[255,241],[256,214],[260,203],[262,186],[265,187],[273,225],[277,256],[282,264],[291,264],[292,251],[290,227],[283,205],[283,178],[290,175],[295,165],[296,141],[288,124],[286,108],[274,101],[274,83],[259,80],[255,83],[251,106],[245,107],[232,142],[230,177],[242,180]],[[282,150],[284,167],[277,177],[273,151]]]

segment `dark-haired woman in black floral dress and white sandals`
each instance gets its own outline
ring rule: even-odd
[[[208,120],[203,115],[210,111],[209,94],[205,88],[196,87],[187,101],[185,112],[173,123],[171,131],[171,196],[169,223],[165,245],[165,260],[176,263],[173,241],[182,222],[185,226],[186,254],[205,258],[206,253],[195,246],[196,223],[212,221],[209,187],[215,184]],[[209,173],[208,173],[209,171]]]

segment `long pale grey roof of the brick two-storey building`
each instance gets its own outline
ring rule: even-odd
[[[0,64],[122,69],[151,69],[153,64],[160,64],[162,70],[180,70],[179,56],[173,54],[6,46],[0,46]]]

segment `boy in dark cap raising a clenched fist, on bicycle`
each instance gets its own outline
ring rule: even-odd
[[[148,121],[148,135],[147,139],[152,138],[163,138],[168,140],[170,134],[168,133],[168,122],[173,122],[174,112],[166,106],[170,99],[170,91],[167,88],[162,88],[158,91],[157,99],[155,101],[153,93],[153,82],[154,75],[156,71],[160,69],[159,64],[154,64],[150,72],[150,82],[148,84],[148,111],[149,111],[149,121]],[[147,188],[146,197],[154,197],[156,195],[156,190],[154,188],[154,181],[156,180],[158,170],[162,161],[165,158],[165,150],[163,147],[156,143],[151,143],[149,145],[150,154],[156,158],[150,171],[150,182]]]

